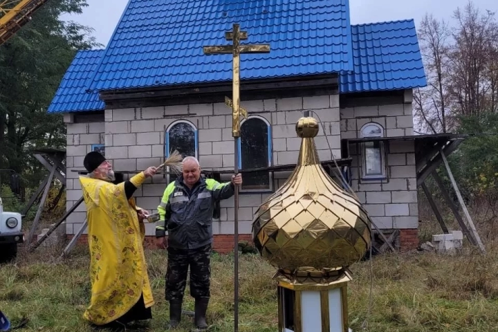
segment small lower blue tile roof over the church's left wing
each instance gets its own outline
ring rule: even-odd
[[[48,113],[104,109],[104,102],[99,99],[98,92],[86,92],[102,55],[104,50],[80,50],[76,54],[48,107]]]

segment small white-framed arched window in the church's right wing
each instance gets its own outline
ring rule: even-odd
[[[361,138],[384,137],[384,128],[376,122],[365,124],[361,131]],[[385,178],[384,142],[373,140],[362,143],[363,178]]]

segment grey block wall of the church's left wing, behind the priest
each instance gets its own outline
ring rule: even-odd
[[[84,169],[84,156],[92,145],[104,144],[104,122],[73,123],[65,117],[67,126],[66,142],[66,210],[69,210],[82,197],[79,175],[73,170]],[[66,234],[75,234],[86,219],[86,207],[81,203],[66,219]],[[86,233],[86,230],[85,230]]]

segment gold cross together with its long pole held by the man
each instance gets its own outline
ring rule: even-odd
[[[240,117],[247,119],[247,111],[240,106],[240,54],[270,53],[270,45],[241,45],[240,41],[248,38],[246,31],[241,31],[239,24],[225,33],[225,39],[232,45],[204,46],[205,55],[232,54],[232,100],[225,97],[225,105],[232,108],[232,137],[234,138],[234,173],[239,173]],[[235,187],[234,195],[234,332],[239,331],[239,187]]]

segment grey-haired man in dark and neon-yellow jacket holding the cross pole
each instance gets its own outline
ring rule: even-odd
[[[210,255],[212,249],[212,214],[214,203],[234,195],[235,185],[242,184],[241,174],[230,183],[201,178],[199,161],[183,159],[182,175],[169,183],[161,199],[156,223],[158,246],[165,248],[168,232],[166,299],[169,301],[169,327],[181,320],[183,295],[190,266],[190,295],[195,299],[194,324],[207,329],[205,313],[210,299]]]

